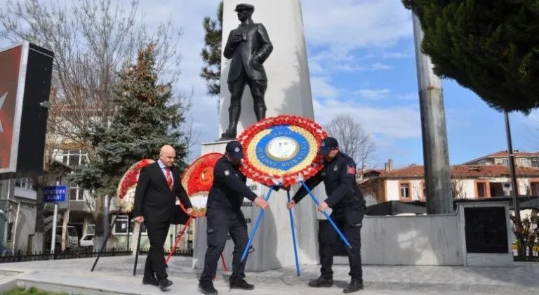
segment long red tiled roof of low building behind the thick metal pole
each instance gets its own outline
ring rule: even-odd
[[[509,176],[510,171],[507,166],[500,165],[458,165],[451,167],[451,176],[453,177],[497,177]],[[423,166],[408,166],[392,171],[382,171],[380,177],[383,178],[402,178],[402,177],[424,177],[425,169]],[[538,176],[539,169],[517,167],[517,176]]]

